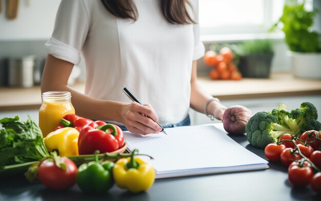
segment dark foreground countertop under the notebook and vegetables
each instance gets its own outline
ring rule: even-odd
[[[229,136],[266,159],[264,150],[249,145],[246,135]],[[77,186],[55,192],[16,175],[0,178],[0,200],[320,200],[320,195],[310,186],[293,188],[287,167],[281,163],[269,163],[269,166],[266,170],[160,179],[147,192],[138,194],[116,186],[102,195],[84,194]]]

